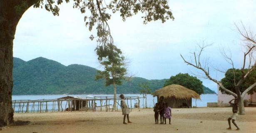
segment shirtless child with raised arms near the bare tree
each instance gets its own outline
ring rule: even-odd
[[[233,100],[234,100],[234,103],[231,103],[231,101],[233,101]],[[228,119],[228,121],[229,121],[229,128],[227,128],[227,129],[231,130],[230,120],[232,119],[232,123],[236,126],[236,130],[239,130],[238,126],[235,123],[236,116],[237,116],[237,111],[238,111],[238,106],[237,106],[238,100],[237,99],[232,99],[232,100],[229,101],[229,103],[233,107],[232,108],[233,114]]]

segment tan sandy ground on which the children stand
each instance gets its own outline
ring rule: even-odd
[[[130,120],[122,124],[121,112],[15,113],[15,121],[31,121],[27,126],[10,126],[0,133],[256,133],[256,108],[246,108],[236,123],[227,118],[231,108],[174,108],[171,125],[154,124],[153,109],[133,110]]]

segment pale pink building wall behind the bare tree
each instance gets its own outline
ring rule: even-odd
[[[221,107],[222,106],[230,106],[229,101],[231,99],[234,99],[234,96],[222,94],[221,91],[219,90],[219,85],[218,85],[218,106],[221,106]],[[244,100],[251,102],[251,95],[246,94],[244,96]],[[256,101],[256,93],[254,93],[254,101]]]

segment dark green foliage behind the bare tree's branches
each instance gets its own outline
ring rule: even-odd
[[[247,71],[245,69],[245,71]],[[241,69],[228,69],[225,73],[225,77],[223,79],[221,79],[221,83],[222,85],[236,93],[235,90],[235,84],[237,84],[242,77],[243,73],[241,71]],[[247,88],[249,88],[252,84],[254,84],[256,82],[256,70],[254,69],[253,71],[251,71],[251,73],[246,77],[246,80],[244,81],[243,84],[241,84],[241,86],[239,86],[239,90],[241,93],[243,93]],[[219,88],[219,90],[221,92],[225,92],[223,89]],[[254,87],[253,89],[251,89],[248,94],[253,94],[256,91],[256,87]],[[229,94],[228,92],[226,92],[226,94]]]

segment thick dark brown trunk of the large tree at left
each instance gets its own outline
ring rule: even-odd
[[[21,0],[0,1],[0,127],[13,122],[12,111],[12,67],[13,67],[13,39],[16,26],[26,9],[15,11]]]

